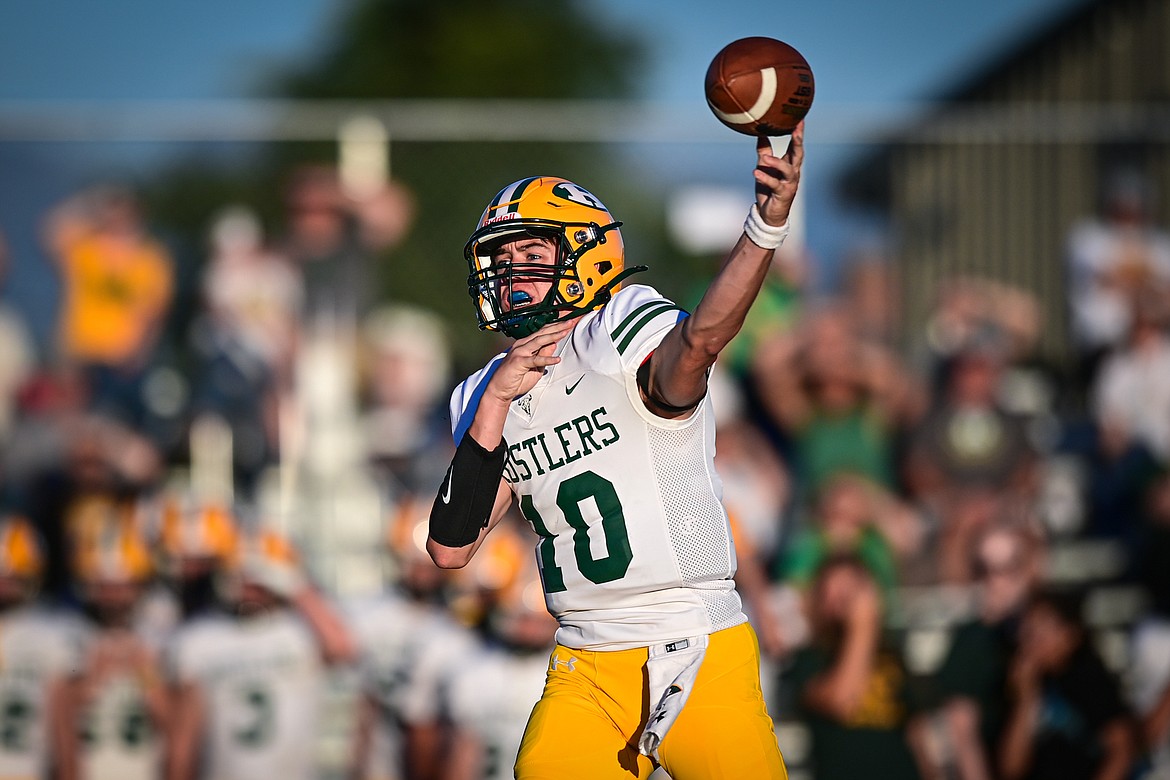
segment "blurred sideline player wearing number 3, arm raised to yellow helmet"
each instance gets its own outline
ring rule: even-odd
[[[228,613],[181,626],[167,778],[316,776],[324,664],[355,656],[349,630],[283,537],[245,534],[220,589]]]

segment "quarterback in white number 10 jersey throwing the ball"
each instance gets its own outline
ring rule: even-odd
[[[541,537],[560,627],[519,780],[655,762],[675,780],[786,775],[732,581],[707,377],[787,234],[803,136],[784,157],[759,139],[744,233],[689,316],[619,289],[640,270],[620,222],[564,179],[504,187],[467,243],[480,326],[515,341],[452,396],[427,550],[464,566],[514,499]]]

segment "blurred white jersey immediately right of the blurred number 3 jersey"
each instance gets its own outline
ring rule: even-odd
[[[397,593],[357,601],[346,613],[362,653],[362,690],[378,704],[369,772],[395,778],[404,750],[399,724],[439,719],[450,676],[479,642],[441,607]]]

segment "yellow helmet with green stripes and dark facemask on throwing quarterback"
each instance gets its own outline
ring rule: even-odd
[[[501,189],[463,248],[480,329],[523,338],[605,304],[622,279],[646,270],[626,268],[620,226],[600,200],[566,179],[529,177]],[[556,264],[493,264],[495,248],[529,235],[556,244]],[[501,301],[501,289],[511,289],[512,278],[548,281],[552,287],[543,301]]]

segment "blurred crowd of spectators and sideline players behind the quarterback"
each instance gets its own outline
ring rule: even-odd
[[[711,392],[793,778],[1170,776],[1152,195],[1119,174],[1069,226],[1059,361],[1028,291],[944,278],[911,327],[888,253],[832,292],[777,254]],[[284,203],[208,226],[178,352],[125,188],[44,218],[50,345],[0,305],[0,778],[511,776],[556,627],[518,516],[467,570],[424,551],[457,377],[376,295],[411,195],[305,167]]]

